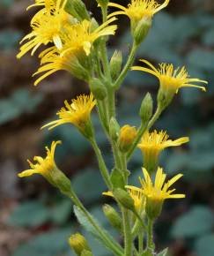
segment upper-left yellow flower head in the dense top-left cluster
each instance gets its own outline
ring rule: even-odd
[[[66,26],[69,26],[71,18],[70,14],[64,11],[65,4],[66,1],[57,0],[55,7],[41,10],[33,17],[31,21],[33,31],[20,41],[21,43],[27,40],[21,46],[18,58],[30,50],[33,55],[42,44],[47,45],[49,42],[54,42],[57,49],[63,48],[62,33]]]

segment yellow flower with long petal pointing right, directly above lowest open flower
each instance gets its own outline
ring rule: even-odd
[[[137,145],[144,155],[144,167],[153,172],[159,163],[159,154],[166,147],[177,147],[189,141],[188,137],[180,139],[168,139],[169,136],[166,132],[145,132],[141,142]]]

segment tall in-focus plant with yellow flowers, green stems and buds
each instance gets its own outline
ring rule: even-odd
[[[147,60],[141,59],[140,61],[146,66],[132,66],[137,46],[148,33],[154,14],[165,8],[169,4],[169,0],[165,0],[163,4],[158,4],[155,0],[131,0],[126,7],[121,4],[109,3],[108,0],[97,0],[97,2],[104,18],[100,26],[95,19],[90,17],[89,12],[85,11],[85,4],[82,0],[35,0],[35,3],[28,8],[41,7],[41,10],[33,16],[31,21],[32,32],[26,34],[21,41],[23,44],[20,47],[18,58],[24,56],[27,52],[31,52],[31,55],[33,55],[36,50],[45,45],[47,49],[43,49],[39,54],[41,67],[33,74],[33,76],[41,76],[36,79],[34,85],[59,70],[70,72],[78,79],[88,82],[91,94],[79,95],[77,99],[73,99],[71,102],[65,101],[64,107],[56,113],[57,119],[43,125],[41,128],[48,127],[48,130],[51,130],[62,124],[75,125],[78,131],[92,143],[98,157],[100,172],[109,190],[103,194],[114,197],[119,206],[122,206],[122,211],[125,207],[132,210],[141,221],[144,222],[144,215],[147,215],[153,221],[159,216],[165,200],[185,197],[184,194],[173,193],[175,189],[171,188],[182,175],[177,174],[166,182],[166,174],[159,167],[159,155],[166,147],[181,146],[187,143],[189,139],[188,137],[169,139],[164,131],[157,132],[154,130],[151,132],[151,126],[159,118],[161,112],[172,102],[173,96],[178,93],[181,87],[198,87],[205,91],[205,87],[197,86],[195,83],[207,84],[207,82],[190,78],[185,67],[174,68],[173,64],[163,63],[156,68]],[[119,11],[107,15],[108,7],[116,8]],[[122,59],[118,52],[115,53],[110,62],[108,62],[107,56],[105,58],[107,36],[115,34],[117,25],[112,25],[112,23],[117,20],[116,16],[118,15],[129,17],[130,31],[134,41],[128,62],[122,72],[120,66],[122,65]],[[111,74],[111,70],[114,75]],[[142,109],[139,114],[142,125],[138,129],[129,124],[121,128],[116,122],[114,113],[113,98],[115,91],[129,70],[147,72],[159,79],[157,110],[152,117],[152,99],[150,95],[147,95],[142,102]],[[117,71],[119,72],[115,75]],[[118,187],[115,187],[114,184],[114,174],[108,173],[100,148],[95,140],[91,120],[91,112],[95,106],[99,111],[100,122],[113,148],[115,161],[113,172],[117,171],[117,177],[122,176],[122,179],[120,179],[122,184],[118,185],[118,181],[116,182]],[[108,243],[112,252],[119,256],[132,255],[130,253],[132,249],[129,245],[129,229],[127,230],[129,225],[124,224],[125,244],[128,243],[128,245],[125,246],[125,254],[123,254],[120,251],[121,248],[115,245],[109,237],[106,237],[106,233],[102,233],[99,226],[96,226],[96,223],[93,222],[85,207],[81,205],[72,191],[70,180],[57,168],[55,147],[60,143],[61,141],[52,142],[51,148],[46,148],[47,156],[45,158],[35,156],[33,159],[35,163],[28,161],[30,169],[20,172],[18,176],[27,177],[33,174],[41,174],[48,182],[54,184],[61,192],[69,195],[74,200],[77,207],[83,210],[88,221],[92,222],[92,226],[99,230],[100,237],[103,238],[105,243]],[[129,156],[136,147],[142,151],[144,158],[143,177],[139,177],[139,187],[129,185],[129,171],[127,170],[127,161],[129,161]],[[153,181],[154,173],[156,175]],[[124,210],[122,213],[124,222],[126,222],[127,212]],[[114,219],[117,219],[115,215]],[[148,232],[148,236],[151,236],[151,231]],[[151,253],[152,246],[150,242],[151,237],[146,251]],[[70,246],[74,248],[79,256],[92,255],[82,253],[84,250],[88,253],[90,248],[85,238],[80,234],[70,237]]]

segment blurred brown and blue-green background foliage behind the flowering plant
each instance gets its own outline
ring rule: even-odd
[[[121,4],[128,1],[117,1]],[[85,1],[100,19],[95,1]],[[57,72],[33,87],[31,74],[39,63],[25,56],[17,61],[18,41],[29,31],[33,10],[26,12],[27,0],[0,2],[0,255],[1,256],[69,256],[67,245],[71,233],[81,230],[72,214],[70,200],[65,199],[41,177],[18,179],[26,169],[26,158],[45,154],[44,146],[62,139],[56,162],[72,179],[77,194],[86,207],[106,227],[101,212],[107,201],[106,190],[89,144],[70,125],[51,132],[40,131],[42,124],[55,118],[65,99],[70,100],[88,87]],[[156,224],[155,237],[160,249],[170,245],[171,256],[214,255],[214,2],[212,0],[172,0],[166,11],[157,14],[148,38],[138,50],[138,58],[153,63],[185,64],[192,76],[209,81],[206,94],[194,88],[181,90],[165,111],[158,129],[166,129],[172,138],[189,136],[188,146],[170,149],[162,155],[167,172],[183,171],[178,188],[187,199],[166,203]],[[109,43],[127,55],[131,38],[128,20],[120,19],[117,36]],[[118,94],[118,117],[121,124],[138,125],[137,112],[144,94],[157,93],[157,80],[141,72],[129,72]],[[96,136],[109,168],[112,156],[107,140],[93,115]],[[137,150],[129,164],[130,184],[137,184],[142,156]],[[112,202],[112,201],[110,201]],[[110,256],[92,236],[88,238],[95,255]]]

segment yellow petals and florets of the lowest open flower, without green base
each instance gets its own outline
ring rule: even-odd
[[[158,168],[155,177],[155,182],[152,183],[151,177],[146,169],[143,168],[144,179],[140,177],[140,183],[142,184],[142,192],[149,200],[164,201],[166,199],[182,199],[185,198],[184,194],[172,194],[175,189],[169,190],[170,187],[183,175],[177,174],[175,177],[166,181],[166,174],[162,168]]]

